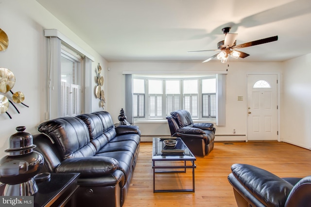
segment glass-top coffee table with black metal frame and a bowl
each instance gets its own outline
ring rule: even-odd
[[[174,139],[177,141],[175,147],[167,147],[164,140]],[[154,192],[194,192],[194,161],[196,158],[189,150],[187,145],[180,138],[153,138],[152,147],[152,168],[154,171]],[[179,165],[182,161],[182,165]],[[164,163],[166,162],[166,163]],[[190,163],[190,164],[189,164]],[[171,171],[157,171],[156,169],[170,169]],[[182,171],[176,169],[183,169]],[[171,189],[155,190],[155,174],[157,173],[186,173],[186,169],[192,169],[192,189]]]

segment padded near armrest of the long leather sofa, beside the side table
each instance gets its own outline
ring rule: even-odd
[[[118,167],[118,160],[108,157],[70,158],[62,161],[55,172],[80,173],[80,177],[97,177],[109,175]]]

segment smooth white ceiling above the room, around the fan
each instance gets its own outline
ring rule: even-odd
[[[239,34],[237,45],[278,35],[276,42],[240,49],[250,56],[237,61],[285,61],[311,53],[310,0],[37,2],[108,62],[204,61],[217,52],[187,51],[216,49],[224,27]]]

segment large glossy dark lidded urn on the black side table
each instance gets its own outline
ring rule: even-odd
[[[27,196],[38,191],[34,176],[43,166],[43,156],[34,151],[33,136],[26,127],[16,127],[9,138],[9,155],[0,159],[0,182],[5,183],[4,195]]]

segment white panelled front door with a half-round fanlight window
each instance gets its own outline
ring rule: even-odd
[[[247,76],[247,139],[277,140],[277,75]]]

